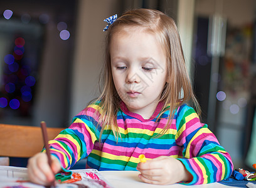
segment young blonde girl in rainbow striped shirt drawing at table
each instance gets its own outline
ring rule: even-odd
[[[139,170],[150,184],[229,177],[230,155],[200,123],[173,19],[136,9],[107,30],[102,94],[49,142],[51,167],[45,153],[29,159],[31,181],[48,185],[61,166],[70,169],[85,157],[98,170]],[[139,162],[140,154],[146,162]]]

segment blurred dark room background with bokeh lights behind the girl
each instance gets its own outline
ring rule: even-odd
[[[1,0],[0,123],[68,127],[99,95],[103,19],[132,8],[174,18],[202,121],[235,167],[250,169],[256,162],[254,0]]]

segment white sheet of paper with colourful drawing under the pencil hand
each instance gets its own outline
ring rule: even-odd
[[[82,176],[82,180],[70,184],[56,184],[56,187],[105,187],[112,185],[95,169],[72,170]],[[95,178],[97,177],[97,178]],[[23,167],[0,166],[0,187],[44,187],[28,182],[28,169]]]

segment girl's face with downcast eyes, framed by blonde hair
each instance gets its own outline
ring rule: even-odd
[[[167,58],[156,36],[124,28],[112,36],[110,57],[119,97],[131,112],[150,118],[167,80]]]

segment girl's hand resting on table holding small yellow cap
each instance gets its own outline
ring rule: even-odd
[[[149,184],[175,184],[181,181],[189,182],[193,179],[179,160],[167,156],[140,162],[137,170],[141,172],[139,178]]]

